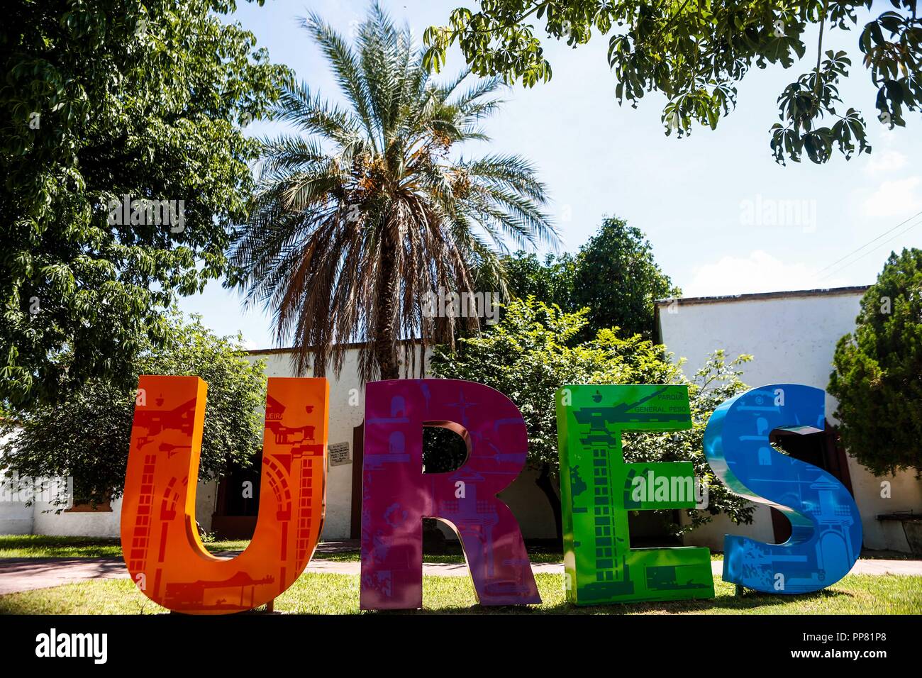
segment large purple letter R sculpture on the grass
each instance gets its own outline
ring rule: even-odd
[[[462,434],[467,461],[422,472],[422,427]],[[422,607],[422,518],[451,525],[482,605],[537,603],[522,534],[496,498],[526,462],[525,421],[482,384],[400,379],[368,384],[361,495],[361,608]]]

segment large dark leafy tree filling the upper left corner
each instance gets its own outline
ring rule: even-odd
[[[242,124],[289,77],[252,33],[221,20],[233,8],[5,4],[0,399],[129,374],[140,342],[165,339],[160,315],[175,296],[227,270],[258,150]],[[128,220],[114,208],[123,196],[138,208]],[[174,218],[145,200],[168,201]]]

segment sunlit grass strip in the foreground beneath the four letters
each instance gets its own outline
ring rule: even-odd
[[[540,605],[484,608],[475,604],[468,577],[423,577],[421,613],[475,614],[918,614],[922,613],[922,577],[848,575],[819,593],[772,596],[748,592],[715,578],[710,601],[643,602],[573,607],[564,601],[561,575],[538,575]],[[276,601],[276,610],[294,614],[359,613],[359,577],[302,575]],[[4,614],[157,614],[129,579],[97,579],[0,596]],[[420,612],[409,612],[418,614]]]

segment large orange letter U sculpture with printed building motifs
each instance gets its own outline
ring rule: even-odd
[[[122,550],[136,584],[183,613],[272,601],[301,575],[324,521],[326,380],[269,379],[259,517],[253,541],[232,559],[208,553],[195,526],[206,383],[142,376],[138,388],[122,505]]]

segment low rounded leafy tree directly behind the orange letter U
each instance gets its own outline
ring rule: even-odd
[[[200,478],[243,468],[262,449],[266,405],[263,363],[245,358],[242,337],[219,337],[198,316],[167,315],[166,339],[146,342],[133,358],[134,388],[91,378],[55,403],[36,404],[0,421],[0,471],[22,477],[71,477],[78,501],[98,504],[122,494],[139,375],[193,375],[207,382]],[[154,394],[145,394],[154,398]]]

